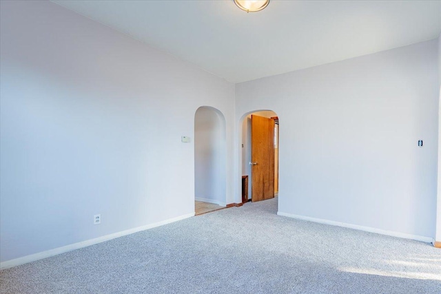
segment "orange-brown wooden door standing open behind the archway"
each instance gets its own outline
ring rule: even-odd
[[[251,116],[252,201],[274,198],[274,120]]]

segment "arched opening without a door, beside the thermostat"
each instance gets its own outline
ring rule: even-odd
[[[199,107],[194,114],[195,214],[226,205],[226,132],[223,114],[213,107]]]

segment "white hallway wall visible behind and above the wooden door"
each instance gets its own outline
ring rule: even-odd
[[[276,112],[272,112],[270,110],[263,110],[259,112],[253,112],[253,115],[263,116],[266,118],[271,118],[277,116]],[[248,114],[242,121],[242,175],[248,176],[248,199],[252,198],[252,169],[249,162],[251,162],[251,151],[252,151],[252,142],[251,142],[251,116],[252,114]]]

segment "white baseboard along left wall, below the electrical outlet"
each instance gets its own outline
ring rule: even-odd
[[[50,258],[54,255],[59,255],[61,253],[65,253],[65,252],[69,252],[75,249],[80,249],[83,247],[87,247],[90,245],[94,245],[94,244],[98,244],[101,242],[105,242],[108,240],[112,240],[115,238],[119,238],[119,237],[123,237],[125,235],[130,235],[132,233],[137,233],[139,231],[145,231],[148,229],[153,229],[155,227],[160,227],[163,226],[164,224],[170,224],[172,222],[177,222],[178,220],[185,220],[185,218],[191,218],[192,216],[194,216],[194,213],[188,213],[185,214],[183,216],[178,216],[176,218],[170,218],[168,220],[163,220],[161,222],[155,222],[153,224],[147,224],[145,226],[142,227],[136,227],[134,229],[129,229],[126,231],[120,231],[117,233],[112,233],[110,235],[103,235],[102,237],[99,238],[94,238],[94,239],[90,239],[90,240],[85,240],[83,242],[78,242],[78,243],[74,243],[74,244],[70,244],[67,246],[63,246],[63,247],[59,247],[56,249],[51,249],[48,251],[43,251],[43,252],[39,252],[39,253],[35,253],[35,254],[31,254],[31,255],[26,255],[23,256],[22,258],[16,258],[14,260],[8,260],[6,262],[0,262],[0,270],[2,269],[9,269],[11,267],[14,266],[19,266],[21,264],[27,264],[28,262],[34,262],[37,260],[42,260],[43,258]]]

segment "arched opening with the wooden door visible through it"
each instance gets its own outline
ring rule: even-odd
[[[279,122],[276,112],[244,114],[242,121],[243,202],[278,196]]]

